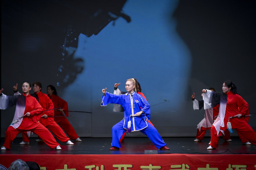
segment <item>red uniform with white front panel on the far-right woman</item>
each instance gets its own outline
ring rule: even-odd
[[[224,125],[221,122],[220,114],[224,114]],[[210,145],[213,148],[218,147],[219,137],[222,133],[221,130],[227,129],[228,118],[237,114],[248,115],[249,105],[241,96],[239,96],[238,94],[233,94],[232,91],[229,91],[227,93],[227,104],[225,112],[220,114],[211,128]],[[230,119],[231,126],[238,132],[239,137],[241,137],[242,135],[245,139],[247,139],[247,141],[256,145],[256,132],[253,131],[252,127],[248,124],[247,121],[248,119],[245,117]],[[217,129],[219,128],[220,130],[219,132],[217,132]]]

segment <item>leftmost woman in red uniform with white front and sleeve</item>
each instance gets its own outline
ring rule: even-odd
[[[17,87],[18,84],[16,84]],[[1,150],[11,149],[11,142],[21,132],[32,131],[40,136],[41,139],[50,147],[61,150],[58,142],[53,135],[38,122],[43,108],[38,101],[29,94],[31,85],[29,82],[22,84],[23,94],[16,96],[6,96],[2,94],[4,89],[0,90],[0,109],[10,108],[16,104],[14,119],[5,132],[4,145]]]

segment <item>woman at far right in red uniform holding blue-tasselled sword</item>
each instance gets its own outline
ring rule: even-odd
[[[223,93],[216,93],[203,89],[204,108],[213,108],[220,104],[219,115],[211,128],[211,143],[207,149],[218,147],[219,137],[227,129],[227,122],[231,123],[238,134],[240,133],[252,144],[256,145],[256,132],[248,124],[244,116],[249,114],[248,103],[237,94],[237,87],[230,80],[223,83]],[[229,118],[229,117],[235,118]]]

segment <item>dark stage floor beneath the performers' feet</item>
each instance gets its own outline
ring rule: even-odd
[[[81,138],[82,142],[74,142],[73,146],[67,146],[62,142],[62,150],[50,149],[44,142],[36,142],[36,138],[31,138],[29,145],[19,145],[21,138],[14,139],[11,150],[0,151],[0,154],[145,154],[145,150],[157,150],[148,138],[126,137],[121,143],[119,151],[108,150],[111,146],[111,138]],[[232,142],[223,139],[219,141],[219,147],[215,150],[207,150],[210,138],[203,139],[202,142],[193,142],[195,138],[169,137],[163,138],[170,150],[158,150],[162,153],[182,153],[182,154],[256,154],[255,145],[242,145],[238,137],[232,137]],[[4,138],[0,139],[3,145]],[[153,151],[154,152],[154,151]],[[156,151],[155,151],[156,152]]]

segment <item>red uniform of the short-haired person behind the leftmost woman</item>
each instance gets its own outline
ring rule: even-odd
[[[44,109],[43,113],[41,113],[40,116],[42,116],[43,114],[46,114],[48,116],[48,118],[40,118],[40,123],[48,128],[50,132],[52,132],[61,142],[67,142],[68,140],[70,140],[65,135],[61,127],[54,121],[54,104],[47,96],[47,94],[39,92],[36,95],[38,96],[39,103]],[[22,137],[24,142],[29,142],[29,136],[26,133],[22,133]]]

